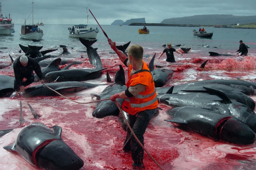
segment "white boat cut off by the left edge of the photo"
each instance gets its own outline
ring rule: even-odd
[[[12,23],[12,19],[7,17],[3,17],[2,14],[2,5],[0,2],[0,35],[10,35],[14,31],[14,23]]]

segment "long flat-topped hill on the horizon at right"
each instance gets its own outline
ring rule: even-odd
[[[195,24],[195,25],[228,25],[245,24],[256,21],[256,16],[234,16],[234,15],[194,15],[190,17],[164,19],[163,24]]]

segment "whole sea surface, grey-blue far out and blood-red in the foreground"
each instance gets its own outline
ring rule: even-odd
[[[7,36],[0,35],[0,75],[14,76],[9,55],[13,59],[24,55],[23,51],[20,52],[19,45],[40,46],[42,47],[40,51],[57,49],[48,53],[54,55],[63,51],[60,45],[65,45],[71,54],[61,58],[84,62],[80,65],[73,65],[69,69],[94,68],[95,66],[89,63],[87,53],[82,52],[86,50],[85,46],[79,39],[69,36],[69,27],[72,25],[45,24],[39,26],[44,36],[42,40],[34,42],[20,38],[21,24],[15,24],[15,33]],[[95,101],[96,99],[91,98],[90,94],[100,94],[104,88],[113,83],[119,64],[127,73],[127,68],[113,53],[101,28],[98,25],[91,25],[91,27],[99,29],[97,41],[92,47],[97,48],[102,67],[108,69],[102,72],[100,78],[85,81],[100,84],[100,86],[65,94],[66,97],[78,102]],[[199,29],[195,27],[147,26],[150,34],[139,34],[138,29],[142,28],[140,26],[101,25],[101,27],[117,45],[124,45],[129,41],[131,41],[130,44],[141,45],[145,56],[143,60],[147,64],[156,54],[154,65],[172,69],[174,71],[172,78],[163,87],[212,79],[240,79],[256,82],[255,29],[204,27],[207,32],[213,32],[211,39],[205,39],[193,35],[193,30]],[[243,40],[244,44],[249,47],[248,56],[236,55],[235,51],[239,48],[240,40]],[[171,43],[176,50],[183,47],[191,48],[191,51],[182,56],[174,53],[176,63],[166,62],[165,54],[157,59],[167,43]],[[228,56],[209,56],[209,52]],[[204,69],[200,68],[206,60],[209,61]],[[111,83],[106,82],[107,70],[112,79]],[[32,83],[30,86],[38,84],[40,83]],[[250,97],[256,101],[255,96]],[[25,119],[22,127],[19,123],[20,101]],[[84,161],[82,170],[132,168],[131,154],[122,150],[126,132],[122,129],[118,117],[107,116],[100,119],[93,117],[92,112],[96,103],[78,104],[58,95],[0,98],[0,102],[0,130],[13,129],[12,132],[0,137],[0,169],[40,169],[29,164],[16,152],[3,149],[15,142],[19,132],[25,126],[34,122],[41,122],[49,128],[54,125],[61,126],[62,139]],[[34,119],[27,103],[41,116],[39,119]],[[159,103],[158,107],[160,108],[159,115],[152,118],[144,134],[144,146],[162,169],[255,169],[256,143],[244,146],[234,145],[186,131],[177,124],[164,121],[170,119],[166,111],[171,109],[171,106]],[[150,155],[144,153],[146,169],[160,169]]]

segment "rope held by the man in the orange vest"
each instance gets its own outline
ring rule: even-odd
[[[77,102],[77,101],[75,101],[75,100],[72,100],[72,99],[67,98],[66,96],[61,95],[59,92],[55,91],[55,90],[52,89],[51,87],[48,87],[45,83],[43,83],[43,85],[45,85],[48,89],[50,89],[50,90],[56,92],[58,95],[60,95],[60,96],[62,96],[62,97],[64,97],[64,98],[66,98],[66,99],[68,99],[68,100],[70,100],[70,101],[72,101],[72,102],[79,103],[79,104],[89,104],[89,103],[96,103],[96,102],[100,102],[100,101],[104,101],[104,100],[110,100],[110,98],[107,98],[107,99],[95,100],[95,101],[92,101],[92,102],[85,102],[85,103],[83,103],[83,102]],[[120,107],[120,103],[118,103],[117,101],[115,101],[115,104],[116,104],[117,108],[119,109],[120,113],[122,113],[122,116],[123,116],[123,118],[124,118],[124,120],[125,120],[125,122],[126,122],[128,128],[130,129],[131,134],[134,136],[134,138],[135,138],[136,141],[139,143],[139,145],[141,146],[141,148],[151,157],[151,159],[156,163],[156,165],[157,165],[161,170],[163,170],[163,168],[161,167],[161,165],[160,165],[160,164],[156,161],[156,159],[145,149],[145,147],[142,145],[142,143],[141,143],[140,140],[137,138],[137,136],[135,135],[135,133],[132,131],[132,128],[131,128],[131,126],[129,125],[128,120],[125,118],[125,113],[122,112],[122,108]]]

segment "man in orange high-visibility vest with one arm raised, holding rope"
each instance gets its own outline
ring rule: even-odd
[[[128,122],[135,136],[144,145],[144,133],[154,116],[158,102],[156,88],[151,72],[143,59],[143,48],[133,44],[128,48],[128,57],[116,48],[116,43],[109,39],[110,47],[116,52],[120,61],[128,69],[127,89],[110,97],[111,101],[116,98],[124,99],[122,109],[128,113]],[[125,152],[131,151],[133,169],[145,169],[143,164],[144,150],[131,134],[127,127],[126,139],[123,145]]]

